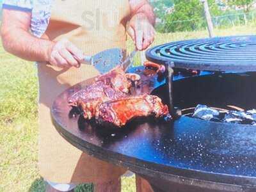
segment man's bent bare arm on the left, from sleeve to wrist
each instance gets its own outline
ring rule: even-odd
[[[1,38],[6,51],[29,61],[49,61],[53,42],[29,32],[31,13],[3,9]]]

